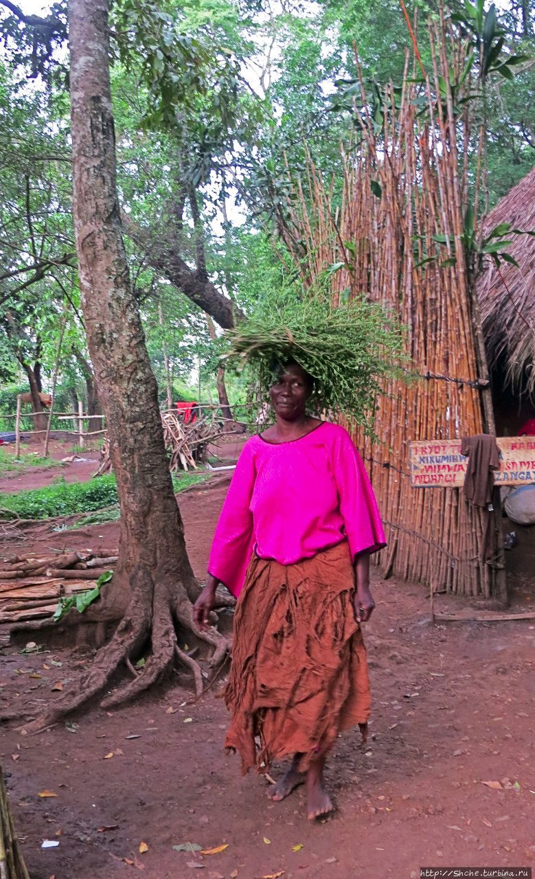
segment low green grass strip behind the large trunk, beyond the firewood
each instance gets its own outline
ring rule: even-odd
[[[208,474],[180,473],[173,475],[176,493],[190,485],[204,482]],[[95,513],[78,522],[78,525],[91,525],[119,519],[115,476],[98,476],[89,483],[66,483],[65,479],[54,480],[51,485],[40,489],[0,493],[0,508],[16,512],[21,519],[49,519],[53,516],[72,516],[79,512]],[[104,507],[111,507],[105,510]],[[97,511],[101,511],[97,518]]]

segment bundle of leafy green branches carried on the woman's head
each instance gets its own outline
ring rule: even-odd
[[[278,301],[226,337],[230,351],[223,362],[247,370],[253,402],[268,399],[280,367],[294,361],[314,379],[311,411],[343,415],[370,435],[377,397],[407,362],[401,326],[364,296],[339,306],[322,294]]]

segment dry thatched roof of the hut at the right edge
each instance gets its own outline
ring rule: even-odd
[[[535,168],[488,214],[484,236],[502,222],[511,229],[535,229]],[[535,236],[507,237],[513,240],[507,251],[520,267],[502,262],[497,269],[489,259],[478,280],[488,362],[502,363],[515,389],[534,393]]]

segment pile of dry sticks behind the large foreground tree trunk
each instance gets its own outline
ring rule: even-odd
[[[236,432],[235,423],[222,418],[219,407],[200,407],[200,411],[199,417],[190,424],[184,424],[183,418],[175,411],[162,412],[163,440],[170,453],[171,473],[197,469],[198,464],[206,461],[210,443]],[[102,476],[112,469],[107,433],[101,455],[102,461],[95,476]]]

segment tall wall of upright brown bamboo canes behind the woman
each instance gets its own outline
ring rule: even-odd
[[[330,266],[335,301],[343,291],[365,293],[407,327],[419,379],[393,381],[378,399],[375,432],[382,442],[359,432],[355,437],[387,526],[388,546],[380,554],[385,575],[433,591],[503,597],[500,565],[483,557],[487,527],[497,557],[496,520],[468,505],[459,489],[412,488],[408,475],[411,439],[495,432],[474,283],[461,243],[469,109],[458,115],[453,107],[449,67],[460,76],[466,58],[451,40],[448,63],[446,34],[444,19],[431,25],[433,69],[426,84],[411,82],[406,69],[401,97],[386,90],[380,126],[361,76],[360,137],[343,155],[341,206],[336,210],[333,186],[323,185],[310,161],[307,183],[296,189],[293,234],[285,237],[303,280],[324,276]],[[433,236],[444,237],[438,243]]]

